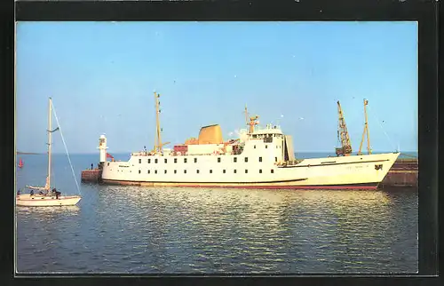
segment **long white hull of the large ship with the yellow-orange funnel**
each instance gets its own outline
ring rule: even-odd
[[[245,155],[247,156],[247,155]],[[259,155],[248,155],[256,157]],[[151,187],[237,187],[291,189],[375,189],[399,153],[305,159],[278,165],[264,158],[234,156],[141,156],[104,166],[105,184]],[[155,159],[158,159],[155,161]],[[183,163],[184,158],[187,163]],[[147,163],[148,159],[154,162]],[[174,160],[177,159],[177,160]],[[273,158],[271,158],[273,159]]]

